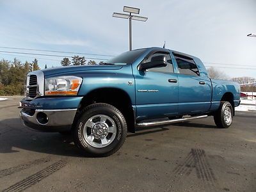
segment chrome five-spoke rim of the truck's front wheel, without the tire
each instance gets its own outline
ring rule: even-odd
[[[92,147],[106,147],[115,139],[116,124],[107,115],[94,115],[84,124],[83,136]]]

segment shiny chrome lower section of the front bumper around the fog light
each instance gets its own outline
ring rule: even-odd
[[[68,131],[71,129],[77,109],[35,109],[31,114],[22,109],[20,119],[30,129],[44,132]],[[42,122],[39,116],[46,115],[47,120]]]

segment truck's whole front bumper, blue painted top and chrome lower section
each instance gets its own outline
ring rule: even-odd
[[[26,127],[36,131],[69,131],[82,99],[83,97],[24,98],[20,100],[20,119]]]

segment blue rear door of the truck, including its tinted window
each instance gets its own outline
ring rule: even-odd
[[[200,76],[193,58],[174,54],[179,69],[179,114],[193,115],[208,111],[211,106],[211,81]]]

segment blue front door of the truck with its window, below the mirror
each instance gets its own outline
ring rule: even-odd
[[[163,54],[166,56],[166,67],[140,70],[134,75],[137,120],[178,114],[179,81],[177,74],[173,73],[173,61],[170,54],[156,52],[142,62],[150,62],[153,56]]]

